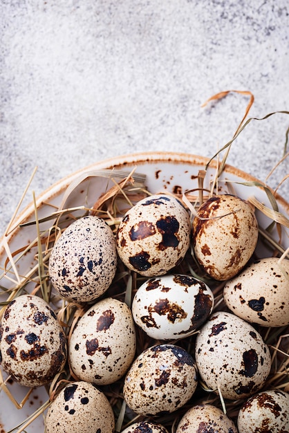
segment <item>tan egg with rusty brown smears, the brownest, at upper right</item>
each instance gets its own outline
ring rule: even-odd
[[[234,277],[247,264],[258,240],[258,223],[247,201],[213,196],[198,209],[192,239],[198,263],[212,278]]]

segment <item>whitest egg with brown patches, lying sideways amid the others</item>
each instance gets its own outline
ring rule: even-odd
[[[148,279],[133,297],[133,320],[156,340],[178,340],[191,335],[207,320],[214,295],[190,275],[162,275]]]

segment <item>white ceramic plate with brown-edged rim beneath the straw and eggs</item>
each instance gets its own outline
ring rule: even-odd
[[[92,206],[98,196],[113,185],[113,182],[109,181],[107,178],[90,176],[90,174],[101,169],[121,169],[126,172],[131,172],[131,169],[136,167],[136,172],[146,175],[145,183],[150,192],[183,193],[185,190],[198,188],[198,172],[201,169],[205,169],[208,161],[208,158],[203,158],[201,156],[161,152],[131,154],[103,160],[71,174],[71,176],[62,179],[43,192],[43,194],[41,194],[37,199],[38,218],[44,218],[44,216],[48,216],[51,212],[54,212],[62,203],[68,186],[71,185],[71,183],[79,181],[81,178],[84,178],[84,180],[75,188],[75,190],[73,190],[72,194],[68,196],[65,208],[73,208],[80,205],[86,205],[88,207]],[[212,181],[215,174],[216,161],[213,161],[207,169],[204,183],[205,187],[209,187],[209,183]],[[223,181],[230,182],[226,185]],[[257,179],[245,174],[245,172],[242,172],[236,167],[227,165],[219,179],[218,186],[221,192],[230,192],[231,185],[234,187],[236,194],[241,196],[243,199],[247,199],[248,196],[255,196],[256,199],[270,208],[270,201],[262,187],[241,185],[243,182],[252,181],[257,181]],[[286,203],[286,201],[284,201],[280,196],[277,196],[277,203],[279,205],[279,211],[288,216],[288,203]],[[11,251],[16,251],[21,246],[32,241],[32,239],[35,239],[37,237],[35,225],[26,225],[25,227],[18,228],[20,223],[26,223],[27,221],[33,221],[34,219],[35,208],[33,203],[31,203],[13,222],[12,228],[17,227],[16,230],[12,230],[10,234],[2,238],[0,247],[1,273],[3,272],[7,259],[5,243],[7,242],[9,244]],[[266,228],[272,222],[259,211],[257,211],[257,219],[261,228]],[[41,223],[41,230],[48,228],[50,225],[50,221]],[[273,231],[272,235],[275,239],[279,239],[276,230]],[[284,228],[282,239],[283,248],[288,248],[289,237]],[[265,257],[270,255],[270,252],[269,250],[265,250],[262,244],[259,246],[258,255],[260,257]],[[32,252],[28,253],[23,259],[21,259],[21,261],[19,261],[19,263],[17,263],[19,275],[25,275],[33,266],[35,266],[35,259]],[[11,270],[8,275],[10,278],[15,277],[13,270]],[[6,288],[12,287],[13,283],[10,278],[5,276],[3,277],[2,274],[0,280],[1,286]],[[3,300],[3,297],[1,300]],[[12,383],[9,386],[13,396],[15,396],[18,401],[21,400],[22,396],[24,396],[27,391],[27,389],[24,389],[15,383]],[[24,421],[29,414],[35,412],[35,409],[46,400],[47,394],[45,389],[35,389],[24,406],[24,409],[17,410],[14,405],[12,405],[6,394],[4,394],[3,391],[0,391],[0,431],[8,432],[10,429],[15,427],[15,425]],[[44,422],[41,416],[26,429],[26,432],[41,431],[44,431]]]

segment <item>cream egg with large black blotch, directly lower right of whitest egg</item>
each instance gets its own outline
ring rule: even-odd
[[[203,382],[224,398],[248,398],[268,378],[271,356],[261,335],[245,320],[213,313],[196,337],[196,365]]]

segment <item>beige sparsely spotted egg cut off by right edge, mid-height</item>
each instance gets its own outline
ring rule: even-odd
[[[230,310],[248,322],[261,326],[289,324],[289,260],[266,257],[254,261],[224,287]]]

